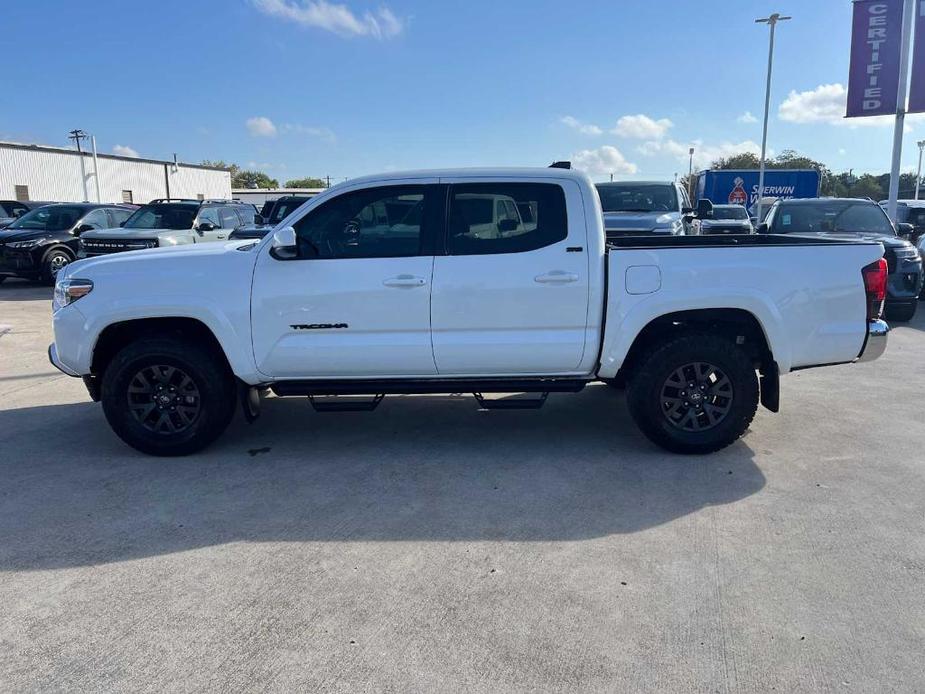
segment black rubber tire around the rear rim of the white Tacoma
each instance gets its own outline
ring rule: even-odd
[[[682,430],[665,414],[663,387],[682,366],[705,362],[719,367],[732,384],[725,417],[713,428]],[[708,334],[688,334],[655,348],[629,379],[630,415],[653,443],[673,453],[713,453],[746,432],[758,410],[758,376],[748,355],[730,340]]]

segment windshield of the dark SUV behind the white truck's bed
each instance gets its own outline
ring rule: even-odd
[[[783,203],[774,213],[771,231],[775,234],[824,231],[895,235],[893,225],[879,205],[837,200],[802,205]]]

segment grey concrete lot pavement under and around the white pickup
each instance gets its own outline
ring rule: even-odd
[[[271,398],[162,460],[49,365],[50,294],[0,287],[3,691],[925,691],[925,311],[708,457],[596,386]]]

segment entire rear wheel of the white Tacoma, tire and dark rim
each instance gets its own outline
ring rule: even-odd
[[[673,453],[712,453],[736,441],[758,410],[758,377],[729,340],[685,335],[649,354],[630,379],[630,414]]]

